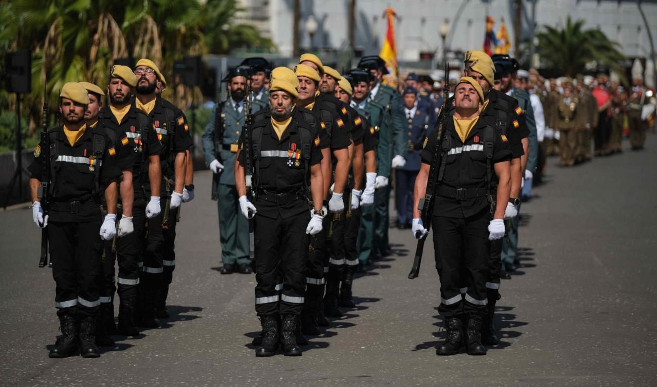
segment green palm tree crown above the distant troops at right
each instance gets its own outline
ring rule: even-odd
[[[621,62],[625,57],[619,51],[620,45],[610,41],[600,30],[584,30],[583,25],[584,20],[573,22],[568,16],[562,29],[543,26],[543,31],[536,34],[541,61],[572,77],[595,60],[622,76]]]

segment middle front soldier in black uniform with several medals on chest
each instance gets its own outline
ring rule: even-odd
[[[256,120],[250,128],[256,192],[253,203],[246,198],[243,148],[235,164],[242,214],[246,217],[255,214],[256,312],[263,328],[256,356],[274,355],[279,340],[285,355],[301,355],[296,331],[306,288],[307,234],[322,229],[320,139],[304,120],[292,116],[296,97],[294,85],[273,80],[269,95],[271,108],[265,113],[267,120]],[[244,144],[244,131],[240,144],[248,146]],[[314,208],[312,217],[308,212],[308,190]],[[279,289],[282,289],[280,296]]]

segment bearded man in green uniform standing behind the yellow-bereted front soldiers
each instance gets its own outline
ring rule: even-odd
[[[214,106],[210,122],[202,136],[206,164],[214,173],[212,184],[219,213],[219,239],[221,240],[221,274],[251,273],[249,259],[248,221],[239,215],[235,188],[235,154],[237,141],[244,127],[244,93],[246,77],[231,70],[226,77],[230,97]],[[265,102],[252,101],[252,111],[258,112]]]

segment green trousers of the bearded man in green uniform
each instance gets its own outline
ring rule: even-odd
[[[248,219],[240,211],[235,185],[217,184],[217,196],[221,262],[224,265],[250,265]]]

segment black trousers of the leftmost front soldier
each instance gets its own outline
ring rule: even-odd
[[[80,318],[94,316],[101,304],[101,219],[48,223],[55,279],[55,307],[78,306]]]

